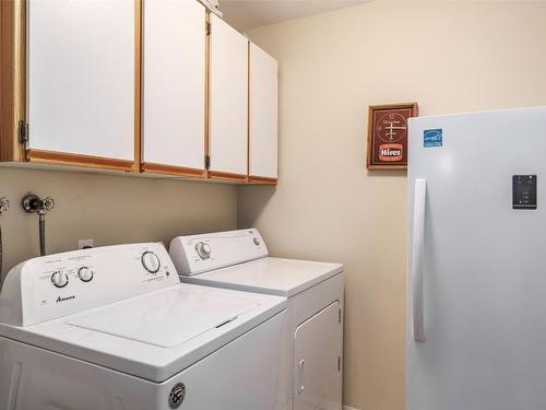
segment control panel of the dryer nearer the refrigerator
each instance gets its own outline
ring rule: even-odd
[[[210,270],[265,258],[268,247],[256,229],[178,236],[170,242],[170,257],[179,274]]]

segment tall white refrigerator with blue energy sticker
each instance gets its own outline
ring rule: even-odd
[[[406,410],[546,409],[546,107],[408,144]]]

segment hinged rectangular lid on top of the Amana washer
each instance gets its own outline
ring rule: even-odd
[[[230,296],[230,295],[229,295]],[[68,325],[173,348],[259,306],[248,298],[182,293],[178,286],[81,314]]]

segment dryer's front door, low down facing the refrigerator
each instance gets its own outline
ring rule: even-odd
[[[294,410],[341,409],[340,302],[304,321],[294,335]]]

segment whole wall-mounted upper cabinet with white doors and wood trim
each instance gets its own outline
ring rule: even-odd
[[[197,0],[0,0],[0,161],[277,180],[276,61]]]

